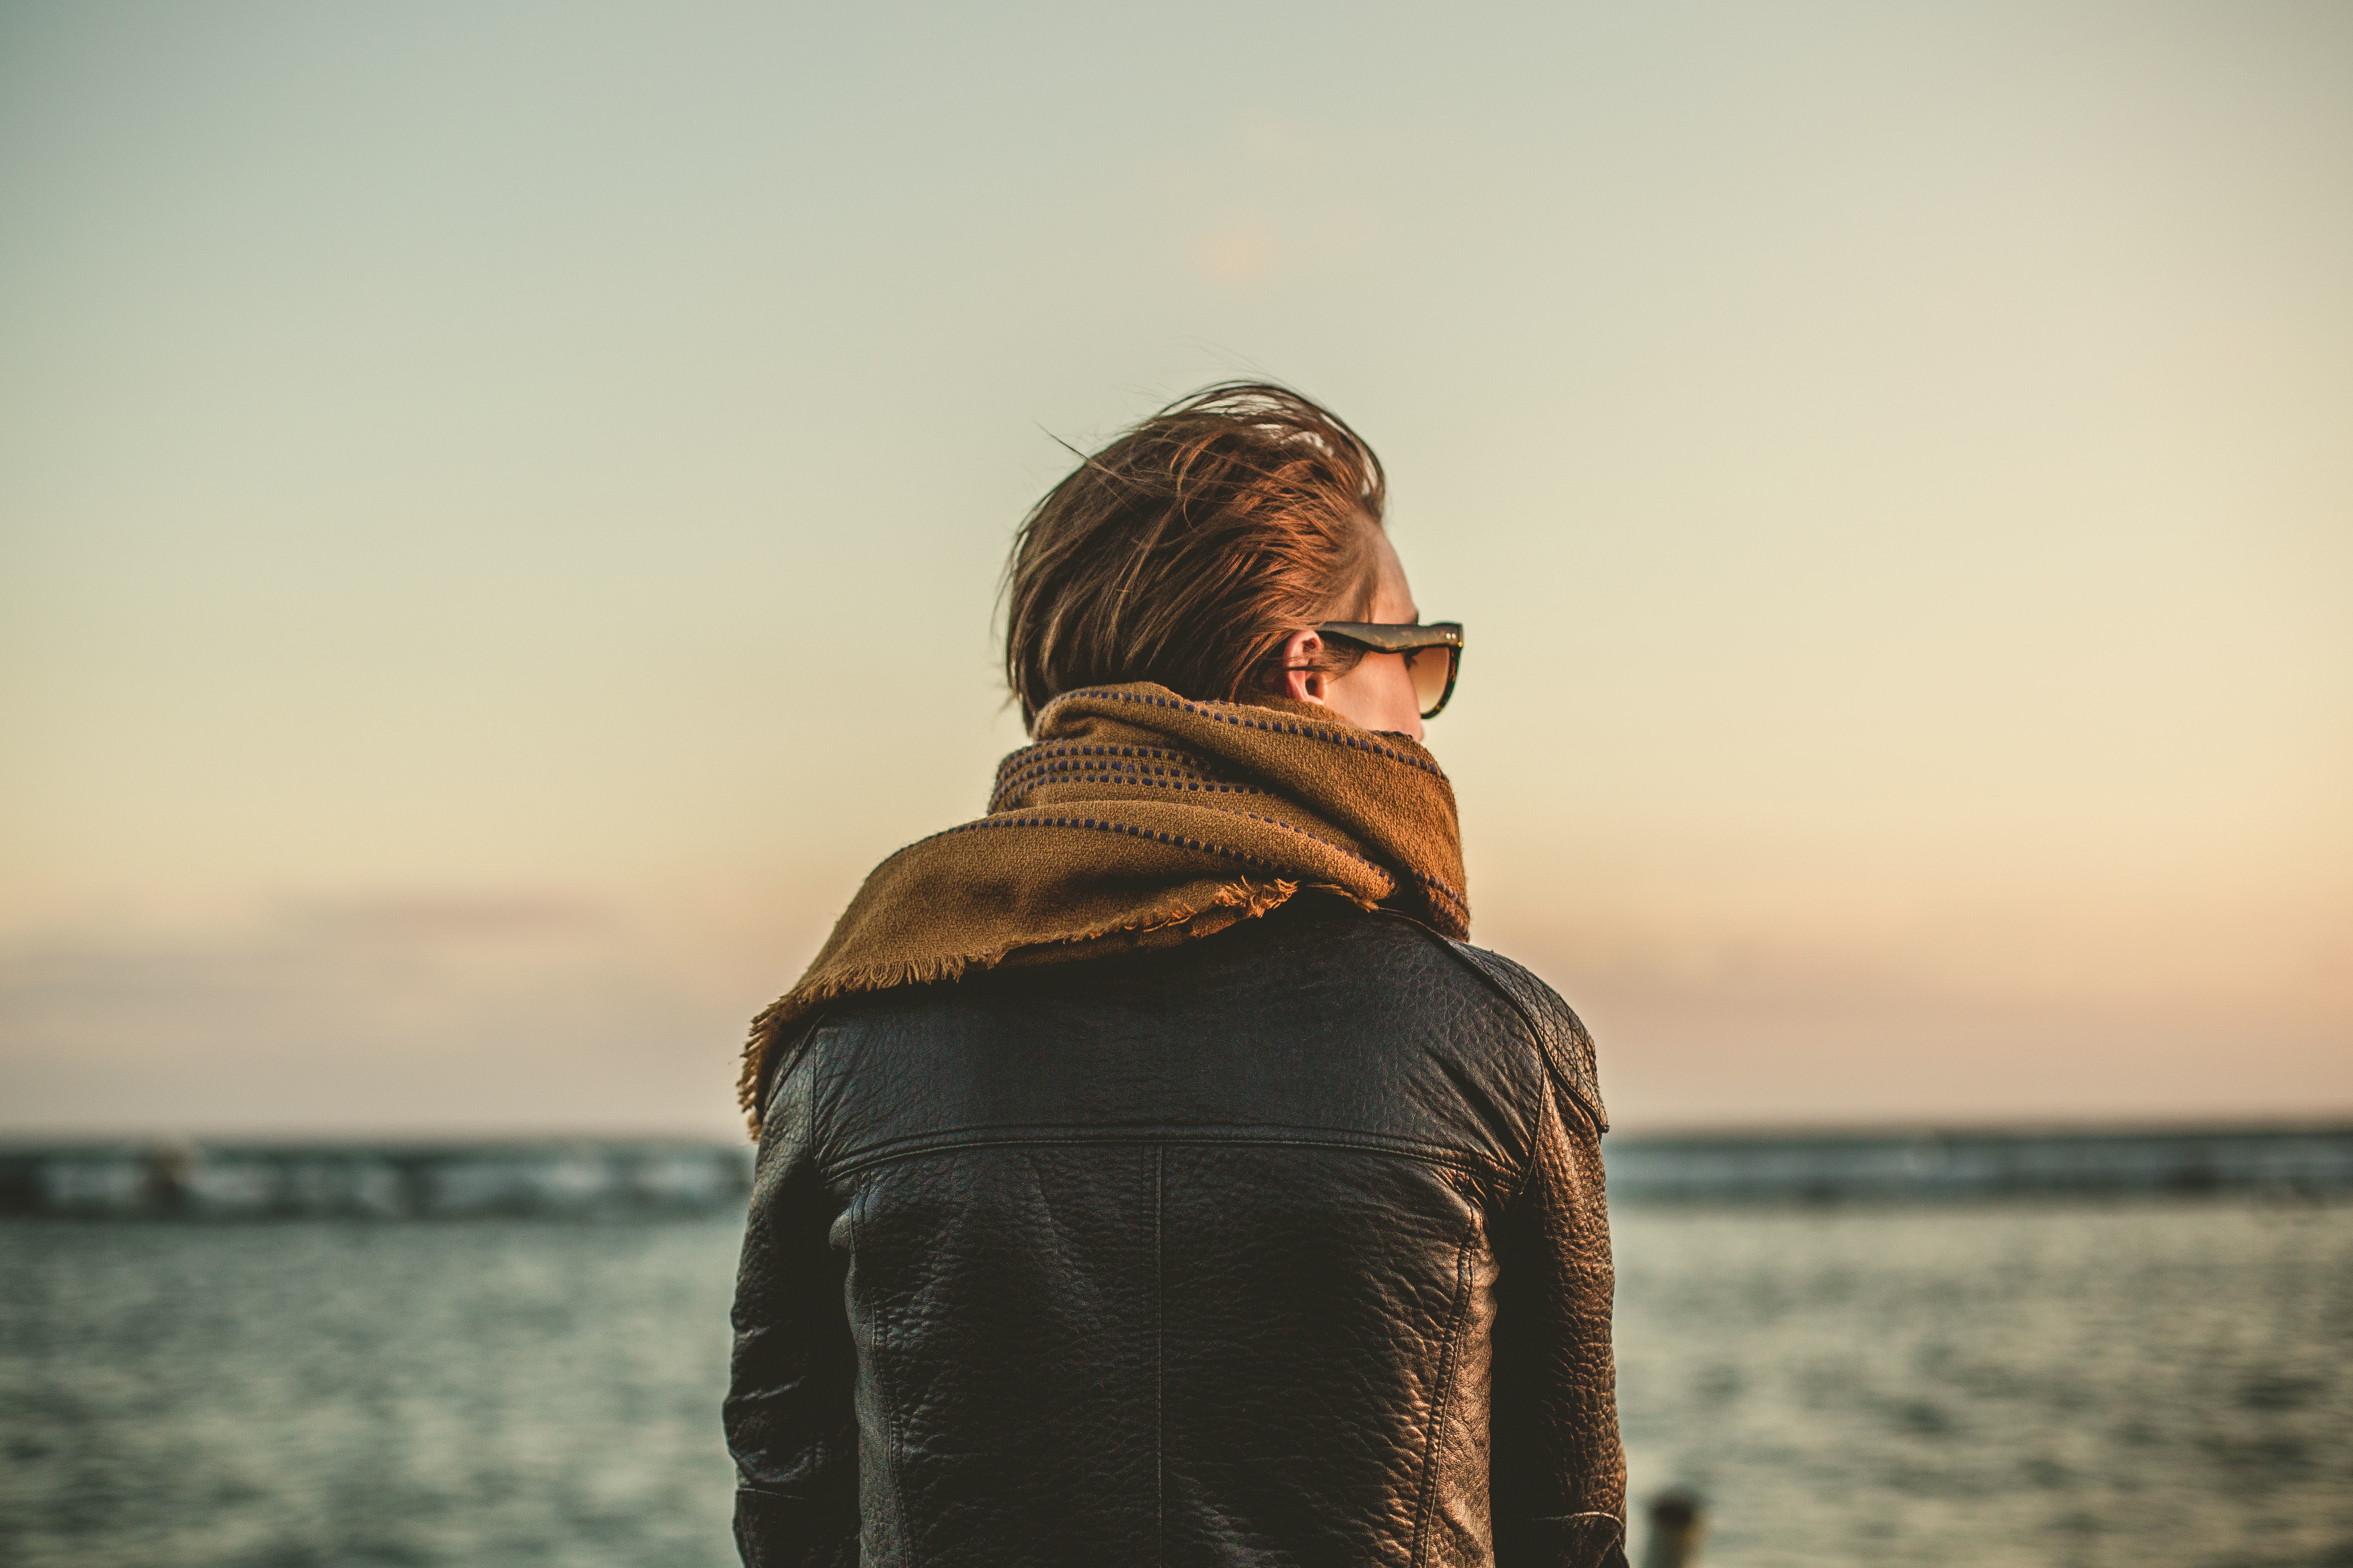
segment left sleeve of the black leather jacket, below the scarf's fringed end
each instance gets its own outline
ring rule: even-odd
[[[769,1098],[736,1272],[727,1450],[736,1462],[736,1552],[746,1568],[859,1561],[856,1352],[840,1204],[816,1171],[807,1058]]]

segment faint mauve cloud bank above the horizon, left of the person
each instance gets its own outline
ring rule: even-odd
[[[725,1133],[751,1006],[638,922],[532,891],[35,931],[0,940],[0,1135]]]

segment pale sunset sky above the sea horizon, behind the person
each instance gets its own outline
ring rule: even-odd
[[[1024,510],[1381,451],[1621,1131],[2353,1114],[2353,9],[0,2],[0,1135],[727,1133]]]

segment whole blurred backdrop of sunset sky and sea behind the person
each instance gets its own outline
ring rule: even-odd
[[[1271,376],[1468,623],[1638,1502],[2353,1563],[2348,82],[2261,0],[0,5],[0,1554],[727,1561],[744,1020],[1021,741],[1064,442]]]

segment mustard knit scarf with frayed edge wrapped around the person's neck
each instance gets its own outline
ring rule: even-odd
[[[772,1053],[835,997],[1181,943],[1301,886],[1471,933],[1454,788],[1405,736],[1153,684],[1068,691],[1033,733],[988,816],[878,865],[753,1020],[736,1084],[753,1138]]]

